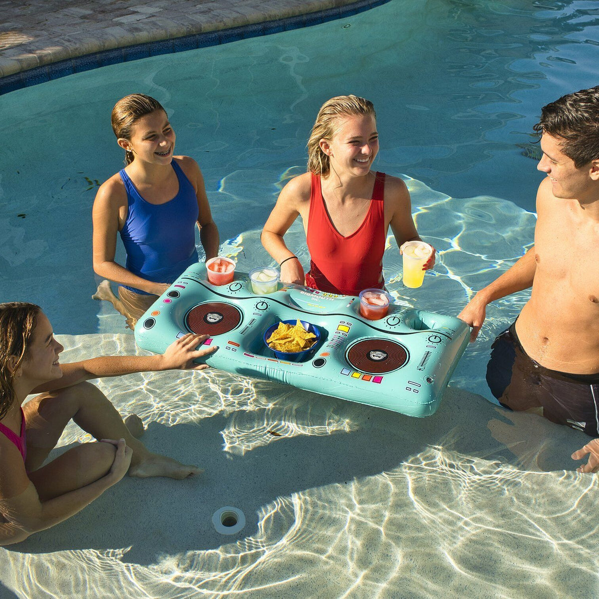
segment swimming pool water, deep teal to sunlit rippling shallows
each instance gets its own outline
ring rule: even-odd
[[[352,92],[374,102],[377,168],[406,176],[419,232],[441,255],[412,291],[393,276],[399,261],[389,249],[389,287],[406,304],[455,314],[470,289],[532,241],[541,175],[527,156],[531,127],[543,104],[597,83],[598,14],[594,1],[393,0],[310,29],[0,96],[0,300],[40,303],[56,332],[73,335],[65,361],[90,346],[133,349],[122,319],[89,299],[90,208],[98,182],[120,168],[110,130],[120,96],[141,91],[165,105],[177,150],[201,165],[222,238],[248,270],[267,258],[259,228],[283,181],[304,169],[317,108]],[[305,256],[301,231],[291,237]],[[467,392],[486,392],[489,343],[526,298],[489,309],[442,409],[423,421],[217,372],[193,375],[195,385],[181,374],[102,382],[120,408],[152,423],[156,450],[189,447],[213,474],[200,491],[123,482],[52,538],[0,550],[15,572],[35,574],[23,582],[0,570],[2,581],[21,596],[46,596],[44,568],[69,564],[94,596],[107,583],[140,597],[181,596],[181,588],[249,597],[592,595],[596,524],[587,513],[597,483],[562,471],[585,435],[495,411]],[[135,526],[128,504],[147,489],[177,497],[167,513],[159,501],[144,506],[151,534]],[[227,543],[204,516],[235,502],[248,524]],[[120,531],[97,530],[102,510]],[[68,580],[59,580],[68,596]]]

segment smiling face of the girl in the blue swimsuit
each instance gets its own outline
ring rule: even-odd
[[[132,152],[136,161],[168,165],[173,160],[175,132],[163,110],[155,110],[137,119],[130,139],[120,137],[119,146]]]

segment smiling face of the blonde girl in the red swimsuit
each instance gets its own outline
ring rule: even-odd
[[[329,156],[331,169],[338,175],[362,176],[370,172],[379,152],[379,133],[371,114],[342,117],[331,140],[320,140]]]

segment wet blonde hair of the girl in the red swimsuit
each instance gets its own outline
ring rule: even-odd
[[[336,96],[320,107],[308,139],[308,171],[321,175],[325,179],[328,177],[331,163],[329,157],[320,148],[320,140],[331,141],[344,117],[362,114],[371,114],[376,119],[373,103],[354,95]]]

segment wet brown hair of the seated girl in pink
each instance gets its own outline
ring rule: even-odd
[[[40,306],[27,302],[0,304],[0,418],[4,418],[13,405],[16,397],[14,375],[28,359],[29,344],[40,312]],[[17,363],[11,372],[8,361],[12,356],[17,357]]]

